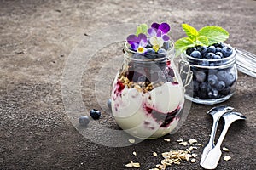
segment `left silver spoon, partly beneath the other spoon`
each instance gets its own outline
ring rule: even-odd
[[[205,161],[206,156],[210,150],[214,148],[214,139],[215,139],[215,133],[218,127],[218,120],[220,119],[221,116],[223,116],[225,113],[232,111],[234,108],[230,106],[225,106],[225,105],[220,105],[217,107],[213,107],[210,111],[207,112],[207,114],[212,115],[213,118],[213,124],[212,124],[212,132],[211,132],[211,137],[209,140],[209,143],[203,150],[203,153],[201,155],[201,161],[200,164]]]

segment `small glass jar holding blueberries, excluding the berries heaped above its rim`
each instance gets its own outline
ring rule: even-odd
[[[193,81],[186,89],[186,99],[204,105],[230,99],[236,91],[237,82],[236,50],[232,48],[232,51],[229,57],[222,59],[196,59],[184,53],[181,55],[193,71]]]

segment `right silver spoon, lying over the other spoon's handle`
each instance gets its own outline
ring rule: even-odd
[[[217,167],[218,161],[221,156],[220,145],[222,144],[225,134],[228,132],[230,125],[236,120],[245,120],[246,116],[243,116],[241,113],[238,112],[229,112],[224,114],[223,118],[225,125],[222,133],[220,134],[218,142],[215,147],[208,152],[205,161],[203,161],[203,163],[201,164],[201,167],[204,167],[205,169],[215,169]]]

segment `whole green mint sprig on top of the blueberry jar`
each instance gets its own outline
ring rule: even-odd
[[[229,38],[229,32],[220,26],[205,26],[197,31],[193,26],[183,24],[183,31],[188,37],[183,37],[175,42],[176,54],[182,54],[187,48],[195,46],[210,46],[214,43],[224,42]]]

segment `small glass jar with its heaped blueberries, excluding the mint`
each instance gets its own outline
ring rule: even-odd
[[[213,105],[223,102],[236,90],[236,50],[223,42],[212,46],[187,48],[181,55],[189,62],[193,81],[186,98],[195,103]]]

